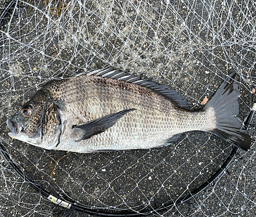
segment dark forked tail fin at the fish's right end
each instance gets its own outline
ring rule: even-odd
[[[204,110],[212,107],[217,118],[217,128],[209,131],[240,149],[247,151],[251,146],[251,138],[242,128],[242,122],[235,115],[239,114],[238,84],[234,81],[235,73],[227,77],[214,97],[206,103]]]

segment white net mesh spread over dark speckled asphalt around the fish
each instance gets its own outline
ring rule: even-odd
[[[106,66],[168,84],[191,108],[200,107],[236,72],[244,119],[256,86],[255,11],[256,3],[249,0],[2,1],[1,142],[27,177],[70,202],[114,213],[179,203],[220,168],[231,144],[189,132],[160,149],[67,154],[12,140],[6,120],[48,81]],[[254,138],[255,130],[249,134]],[[254,150],[252,143],[249,152],[240,151],[228,170],[193,199],[155,214],[254,216]],[[56,214],[55,205],[4,158],[0,171],[0,216]]]

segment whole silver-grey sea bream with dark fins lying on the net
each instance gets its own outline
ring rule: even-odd
[[[52,80],[7,120],[8,135],[47,150],[91,153],[164,147],[184,132],[205,131],[247,151],[235,76],[199,110],[167,85],[119,69]]]

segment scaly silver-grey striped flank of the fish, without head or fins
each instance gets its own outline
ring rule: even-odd
[[[65,89],[67,82],[69,82],[67,88],[69,90]],[[56,84],[53,82],[51,85]],[[75,149],[77,152],[91,152],[120,150],[123,149],[122,147],[147,149],[161,146],[177,133],[211,129],[207,128],[207,119],[212,114],[181,110],[162,95],[139,85],[119,80],[108,81],[107,78],[93,76],[78,77],[72,82],[63,80],[58,85],[57,89],[60,91],[51,94],[54,99],[59,100],[61,97],[65,99],[63,105],[66,105],[67,109],[62,110],[61,114],[68,120],[61,138],[61,146],[56,147],[58,150]],[[63,89],[65,90],[62,92]],[[73,100],[74,96],[77,100]],[[81,134],[72,132],[73,125],[80,125],[101,116],[131,108],[137,110],[125,114],[110,129],[90,139],[76,141]],[[90,113],[90,116],[84,113]],[[74,116],[79,119],[73,119]],[[197,122],[195,122],[196,118]],[[165,121],[163,122],[162,119]],[[130,123],[129,128],[126,127],[128,123]]]

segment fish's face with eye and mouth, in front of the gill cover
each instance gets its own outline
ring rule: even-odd
[[[37,94],[7,120],[12,138],[38,146],[42,140],[42,125],[46,107],[46,97]]]

